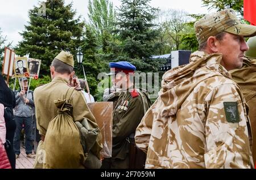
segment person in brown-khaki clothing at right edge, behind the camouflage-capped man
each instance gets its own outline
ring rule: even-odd
[[[249,106],[249,117],[253,135],[253,162],[256,163],[256,36],[247,41],[249,50],[245,52],[243,67],[230,71],[233,80],[241,87]]]

